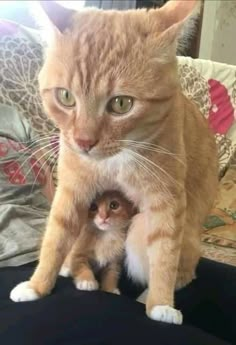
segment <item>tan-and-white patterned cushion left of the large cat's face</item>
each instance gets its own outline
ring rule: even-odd
[[[38,73],[42,66],[42,42],[37,30],[0,21],[0,103],[16,108],[30,123],[35,150],[44,146],[44,158],[55,164],[57,129],[43,111]]]

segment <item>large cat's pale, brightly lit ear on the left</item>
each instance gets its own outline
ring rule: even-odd
[[[32,8],[33,16],[42,30],[42,37],[51,43],[70,27],[76,11],[65,8],[55,1],[36,1]]]

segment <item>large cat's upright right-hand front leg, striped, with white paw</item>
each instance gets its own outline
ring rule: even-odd
[[[181,324],[182,313],[174,308],[174,289],[178,271],[186,214],[185,191],[178,203],[153,203],[146,212],[149,289],[147,315],[157,321]]]

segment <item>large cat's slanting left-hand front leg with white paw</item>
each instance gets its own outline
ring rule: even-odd
[[[18,284],[10,293],[14,302],[31,301],[49,294],[80,225],[86,220],[84,206],[74,202],[73,191],[58,189],[53,200],[39,264],[29,281]],[[81,212],[79,211],[81,210]]]

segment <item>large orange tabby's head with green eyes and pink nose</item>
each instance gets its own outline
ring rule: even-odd
[[[44,106],[74,152],[103,159],[158,135],[179,90],[176,42],[197,0],[161,9],[64,9],[41,1],[52,31],[39,76]]]

